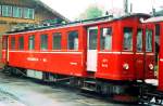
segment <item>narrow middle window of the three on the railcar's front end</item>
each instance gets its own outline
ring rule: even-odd
[[[142,29],[137,30],[137,52],[142,51]]]

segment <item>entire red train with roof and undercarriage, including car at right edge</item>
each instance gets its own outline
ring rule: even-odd
[[[43,81],[68,81],[115,101],[150,103],[154,98],[162,104],[163,19],[153,18],[158,17],[136,13],[7,32],[2,36],[3,70]],[[155,87],[147,80],[155,80],[158,57]]]

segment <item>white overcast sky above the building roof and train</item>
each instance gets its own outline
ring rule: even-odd
[[[41,0],[51,9],[55,10],[66,18],[74,21],[85,10],[91,5],[97,4],[103,11],[112,9],[123,9],[123,0]],[[134,13],[150,13],[152,6],[159,11],[163,9],[163,0],[128,0],[129,5],[133,3]]]

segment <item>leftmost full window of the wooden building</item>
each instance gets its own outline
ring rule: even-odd
[[[2,16],[12,16],[12,6],[2,5]]]

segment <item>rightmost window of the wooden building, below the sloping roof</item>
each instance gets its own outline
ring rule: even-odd
[[[28,8],[24,9],[24,18],[34,19],[34,14],[35,14],[34,9],[28,9]]]

